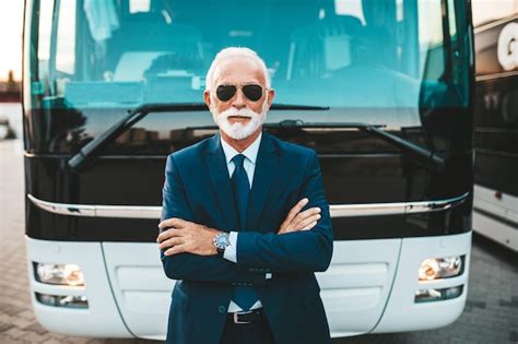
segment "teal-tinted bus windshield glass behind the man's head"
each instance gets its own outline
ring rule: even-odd
[[[212,59],[228,46],[249,47],[264,59],[276,104],[467,106],[467,90],[448,94],[468,87],[456,86],[451,72],[452,3],[40,0],[31,93],[43,103],[32,106],[199,103]]]

